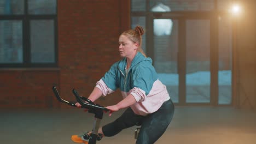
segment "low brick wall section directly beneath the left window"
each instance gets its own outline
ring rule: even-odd
[[[52,107],[51,87],[58,86],[59,70],[15,69],[0,71],[0,107]]]

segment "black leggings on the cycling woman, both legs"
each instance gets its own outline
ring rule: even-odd
[[[165,101],[158,111],[147,116],[136,115],[129,107],[114,122],[104,125],[102,132],[105,136],[114,136],[123,129],[141,125],[136,144],[154,143],[164,134],[172,120],[173,114],[174,105],[171,99]]]

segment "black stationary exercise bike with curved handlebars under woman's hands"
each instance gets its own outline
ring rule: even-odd
[[[67,105],[70,106],[75,106],[75,103],[72,103],[70,101],[64,100],[60,97],[59,92],[57,91],[57,88],[54,86],[53,87],[53,91],[55,94],[55,97],[57,98],[57,100],[59,100],[61,103],[65,103]],[[101,140],[102,135],[98,135],[98,129],[100,128],[100,123],[101,123],[101,119],[103,117],[103,112],[107,112],[109,111],[106,107],[103,107],[101,105],[95,104],[94,102],[92,102],[90,99],[79,96],[78,92],[75,91],[75,89],[73,89],[73,94],[75,95],[75,98],[77,99],[77,102],[82,105],[82,108],[84,109],[88,109],[89,113],[94,113],[94,117],[95,117],[95,121],[94,121],[94,126],[92,128],[91,134],[85,133],[85,134],[81,134],[79,135],[79,137],[81,137],[82,140],[89,140],[87,141],[81,141],[84,142],[85,144],[95,144],[96,141]],[[85,103],[84,101],[86,101],[87,103]]]

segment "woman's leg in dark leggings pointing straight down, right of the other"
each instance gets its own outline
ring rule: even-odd
[[[164,134],[170,124],[174,113],[174,105],[166,101],[160,109],[148,115],[142,122],[136,144],[151,144]]]

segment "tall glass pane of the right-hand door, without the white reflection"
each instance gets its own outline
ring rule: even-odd
[[[186,102],[210,103],[210,20],[187,20],[186,33]]]

